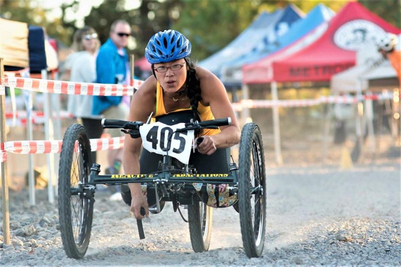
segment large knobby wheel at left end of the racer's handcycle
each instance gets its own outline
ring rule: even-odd
[[[85,128],[71,125],[63,139],[59,167],[59,219],[64,250],[82,258],[92,228],[94,186],[89,181],[91,148]]]

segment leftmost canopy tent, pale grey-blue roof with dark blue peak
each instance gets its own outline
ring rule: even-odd
[[[302,12],[294,5],[278,9],[271,14],[263,12],[236,39],[212,56],[200,61],[199,66],[220,77],[221,67],[225,63],[245,55],[257,47],[264,47],[272,40],[274,29],[278,32],[287,30],[289,25],[301,17],[301,14]],[[282,23],[279,25],[278,22]]]

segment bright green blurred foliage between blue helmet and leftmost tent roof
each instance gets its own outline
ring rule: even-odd
[[[184,0],[179,20],[173,28],[192,45],[192,56],[204,59],[234,40],[263,10],[277,3],[264,1]]]

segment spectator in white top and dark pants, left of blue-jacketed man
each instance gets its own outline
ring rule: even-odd
[[[99,47],[98,35],[92,27],[85,26],[75,32],[72,45],[74,52],[65,63],[68,80],[83,83],[96,81],[96,55]],[[101,117],[92,115],[92,106],[93,96],[68,95],[68,111],[82,120],[89,138],[99,138],[103,132]],[[92,160],[96,162],[96,151],[92,152]]]

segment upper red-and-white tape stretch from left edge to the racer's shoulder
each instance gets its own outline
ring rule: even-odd
[[[134,88],[139,88],[142,83],[143,81],[141,80],[134,80],[134,86],[132,87],[121,84],[77,83],[20,77],[5,77],[3,85],[23,90],[53,94],[132,96],[134,94]]]

